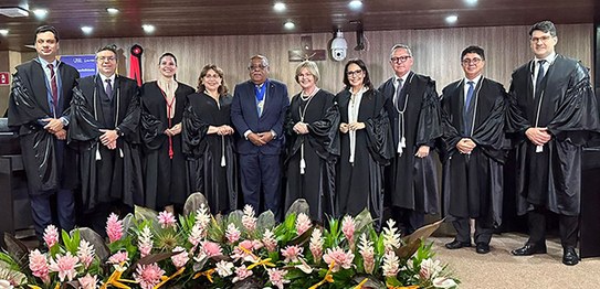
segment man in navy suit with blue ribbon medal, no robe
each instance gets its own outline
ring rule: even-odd
[[[235,85],[231,120],[241,135],[238,140],[244,202],[264,207],[281,220],[280,153],[284,144],[283,121],[290,98],[285,84],[269,76],[269,60],[262,55],[250,58],[250,81]]]

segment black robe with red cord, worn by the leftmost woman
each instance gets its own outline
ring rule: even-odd
[[[188,182],[186,157],[181,149],[181,133],[165,135],[167,128],[181,122],[187,96],[193,88],[178,83],[175,92],[175,115],[171,126],[167,116],[167,101],[157,82],[145,83],[140,88],[140,132],[144,143],[143,168],[145,205],[158,211],[170,204],[182,205],[191,193]],[[172,159],[169,157],[169,148]]]

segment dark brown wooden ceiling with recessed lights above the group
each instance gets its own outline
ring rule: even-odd
[[[49,14],[38,20],[0,15],[0,51],[25,51],[40,24],[56,26],[62,39],[145,36],[141,24],[154,24],[158,36],[250,35],[354,32],[360,20],[366,31],[446,28],[446,15],[456,14],[452,26],[490,26],[531,24],[549,19],[555,23],[591,23],[593,0],[364,0],[361,11],[348,8],[349,0],[282,0],[287,9],[273,11],[273,0],[31,0],[29,9],[44,8]],[[1,7],[18,7],[23,0],[2,0]],[[120,10],[109,15],[106,8]],[[286,21],[296,28],[287,31]],[[83,35],[82,25],[94,26]]]

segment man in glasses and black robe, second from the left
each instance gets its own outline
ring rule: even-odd
[[[80,79],[73,95],[70,141],[80,147],[86,220],[104,233],[110,211],[124,214],[143,202],[138,122],[139,89],[115,74],[116,47],[96,53],[98,74]]]

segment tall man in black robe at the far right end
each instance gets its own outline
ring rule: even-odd
[[[513,255],[546,253],[546,214],[559,218],[562,263],[576,265],[581,201],[581,148],[599,131],[588,69],[555,52],[556,28],[529,30],[535,58],[513,72],[507,131],[517,143],[518,213],[528,215],[529,239]]]

